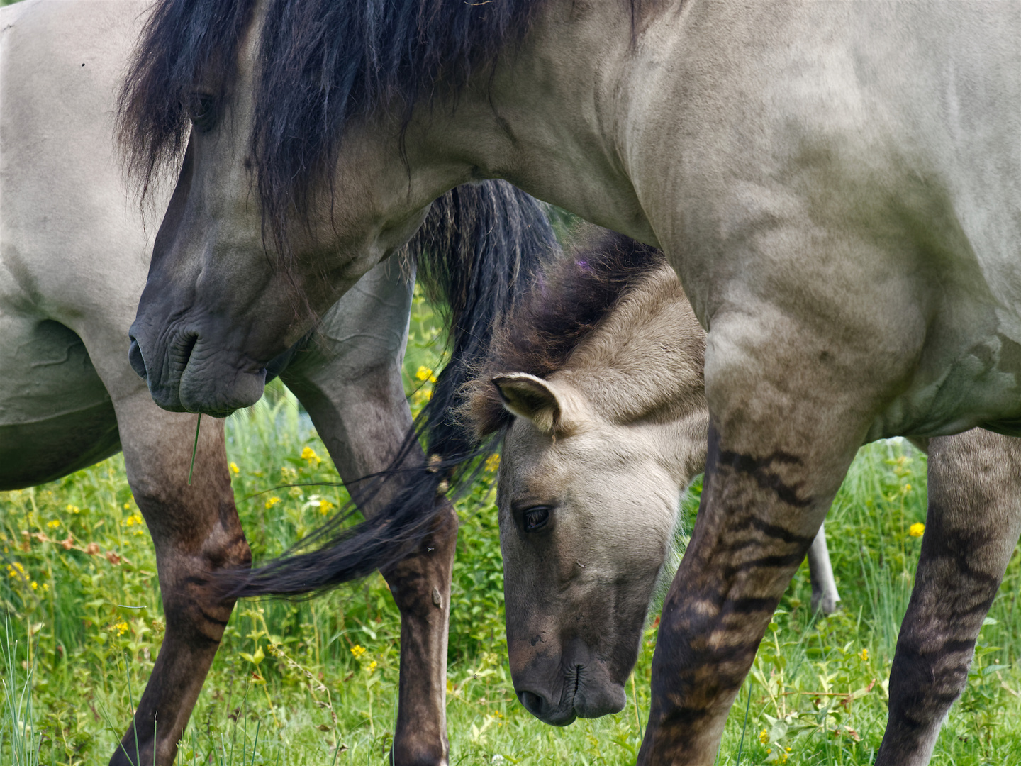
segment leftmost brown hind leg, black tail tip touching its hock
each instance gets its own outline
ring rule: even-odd
[[[224,450],[224,422],[203,418],[188,485],[195,416],[159,410],[148,391],[115,403],[128,478],[156,549],[166,632],[135,719],[111,766],[169,766],[233,602],[218,599],[208,576],[247,566]]]

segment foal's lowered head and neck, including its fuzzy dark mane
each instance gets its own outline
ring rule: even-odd
[[[499,467],[515,689],[551,724],[624,707],[681,492],[702,470],[704,334],[663,255],[604,234],[501,325],[465,414]]]

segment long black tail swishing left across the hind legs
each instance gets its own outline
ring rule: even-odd
[[[499,319],[525,292],[541,266],[558,253],[544,207],[502,181],[460,186],[437,199],[409,244],[427,294],[444,306],[450,360],[433,387],[393,468],[366,481],[369,496],[382,482],[400,491],[372,519],[341,528],[338,514],[300,543],[250,571],[217,577],[232,597],[299,595],[325,590],[383,569],[404,558],[433,529],[439,496],[464,484],[492,446],[477,443],[457,421],[464,384],[484,358]],[[427,461],[408,461],[424,436]],[[408,467],[410,464],[410,467]],[[359,488],[359,495],[367,492]],[[307,550],[309,543],[317,545]]]

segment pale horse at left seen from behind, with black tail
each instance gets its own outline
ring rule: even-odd
[[[147,7],[26,0],[0,9],[0,489],[51,481],[124,451],[156,549],[166,633],[110,763],[165,766],[233,608],[210,588],[209,574],[246,566],[250,556],[223,422],[202,421],[190,478],[195,416],[155,406],[127,355],[151,231],[118,171],[111,114]],[[272,371],[306,408],[367,516],[398,496],[414,508],[408,492],[418,492],[435,517],[423,544],[383,569],[401,615],[396,764],[447,761],[457,525],[434,476],[423,485],[409,472],[423,462],[407,441],[414,429],[400,372],[416,267],[438,305],[449,306],[452,327],[450,362],[427,406],[434,425],[420,429],[436,438],[464,366],[488,338],[493,301],[509,299],[516,280],[554,252],[534,200],[503,183],[456,190],[433,205],[406,256],[375,267]],[[359,480],[381,472],[386,481]]]

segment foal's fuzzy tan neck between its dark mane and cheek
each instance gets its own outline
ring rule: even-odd
[[[706,334],[664,266],[620,298],[556,377],[598,416],[641,428],[685,486],[706,464],[704,350]]]

